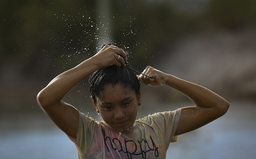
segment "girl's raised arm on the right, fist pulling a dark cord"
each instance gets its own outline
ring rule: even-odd
[[[186,95],[196,104],[194,107],[182,108],[175,135],[193,131],[221,117],[228,111],[229,103],[205,87],[181,80],[150,66],[143,73],[152,79],[140,75],[138,77],[141,83],[150,86],[168,85]]]

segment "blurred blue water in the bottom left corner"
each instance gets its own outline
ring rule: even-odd
[[[1,135],[1,159],[78,158],[76,147],[61,131],[19,131]]]

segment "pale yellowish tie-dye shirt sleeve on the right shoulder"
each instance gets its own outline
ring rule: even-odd
[[[180,121],[181,108],[175,111],[166,111],[162,113],[155,113],[153,115],[148,115],[148,119],[144,119],[144,124],[152,126],[153,128],[157,125],[158,129],[164,136],[166,145],[170,142],[176,142],[178,136],[174,136],[178,128]],[[154,128],[156,129],[156,128]]]

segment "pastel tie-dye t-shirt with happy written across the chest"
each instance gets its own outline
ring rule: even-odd
[[[181,109],[148,115],[135,122],[129,130],[115,131],[104,121],[94,121],[79,112],[76,139],[70,138],[78,150],[79,159],[162,159],[174,136]]]

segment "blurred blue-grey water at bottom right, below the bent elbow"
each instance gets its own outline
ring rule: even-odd
[[[167,156],[180,158],[256,158],[256,103],[231,102],[227,114],[171,143]],[[186,153],[184,153],[186,152]]]

